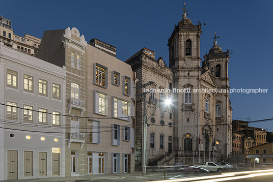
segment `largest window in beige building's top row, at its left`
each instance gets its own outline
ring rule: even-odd
[[[98,63],[94,63],[95,80],[94,83],[103,87],[107,87],[108,69]]]

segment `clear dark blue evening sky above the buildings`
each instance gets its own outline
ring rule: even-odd
[[[230,94],[233,119],[273,118],[272,1],[185,1],[188,18],[202,26],[201,53],[217,44],[232,50],[231,88],[264,88],[262,94]],[[3,5],[3,4],[2,4]],[[97,38],[117,47],[126,60],[143,47],[169,63],[168,38],[182,18],[183,1],[8,1],[0,15],[12,20],[14,33],[42,38],[52,29],[76,27],[89,42]],[[272,121],[273,122],[273,121]],[[252,123],[273,131],[273,123]]]

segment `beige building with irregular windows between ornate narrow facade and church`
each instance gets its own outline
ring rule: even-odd
[[[87,45],[87,174],[133,172],[134,75],[130,65],[103,49],[114,46],[96,42]]]

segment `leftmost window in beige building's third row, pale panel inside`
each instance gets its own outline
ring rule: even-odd
[[[89,143],[100,143],[100,121],[88,120],[88,140]]]

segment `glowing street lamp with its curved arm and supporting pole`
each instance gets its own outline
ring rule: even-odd
[[[158,106],[154,109],[153,113],[159,106],[167,106],[172,102],[171,98],[166,99],[163,102],[160,102]],[[149,118],[153,115],[153,113],[149,116]],[[144,95],[144,118],[143,118],[143,153],[142,153],[142,175],[146,176],[146,167],[147,167],[147,120],[146,119],[146,95]]]

